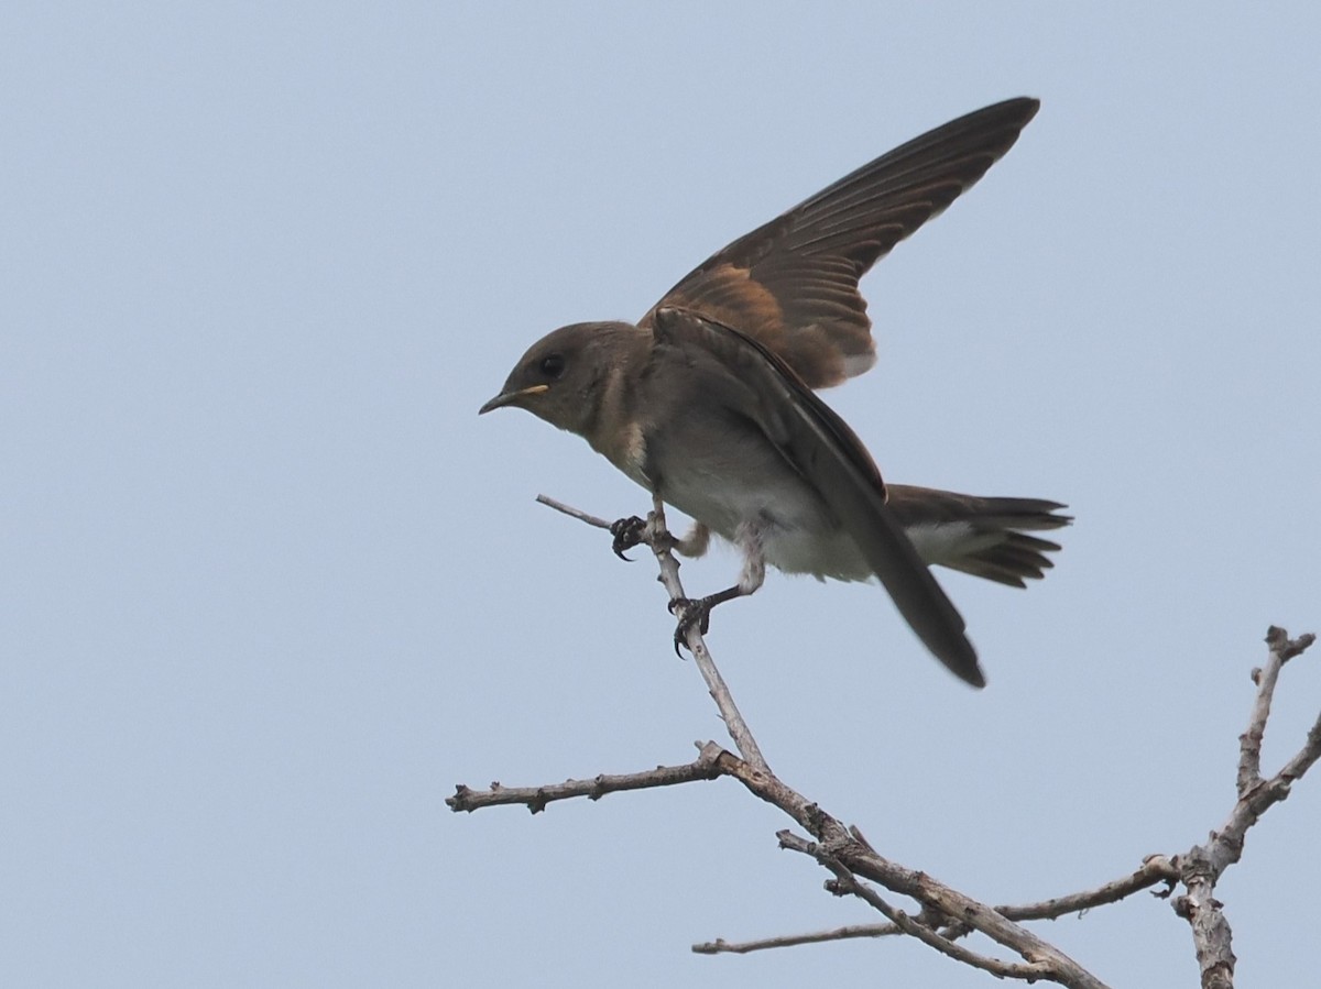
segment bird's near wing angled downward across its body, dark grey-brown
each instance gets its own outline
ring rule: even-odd
[[[657,346],[700,347],[745,386],[748,416],[820,494],[894,599],[900,614],[955,675],[985,679],[963,618],[885,504],[880,471],[861,441],[787,363],[753,337],[683,309],[655,312]]]

